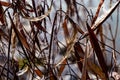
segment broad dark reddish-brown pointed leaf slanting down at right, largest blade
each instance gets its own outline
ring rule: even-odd
[[[93,30],[88,25],[88,23],[86,23],[86,24],[87,24],[87,29],[88,29],[89,36],[90,36],[90,42],[92,44],[93,49],[95,50],[96,56],[98,58],[98,62],[100,64],[103,72],[105,73],[106,78],[108,78],[108,73],[107,73],[108,68],[107,68],[107,65],[106,65],[102,50],[100,48],[100,45],[98,43],[98,40],[97,40]]]

